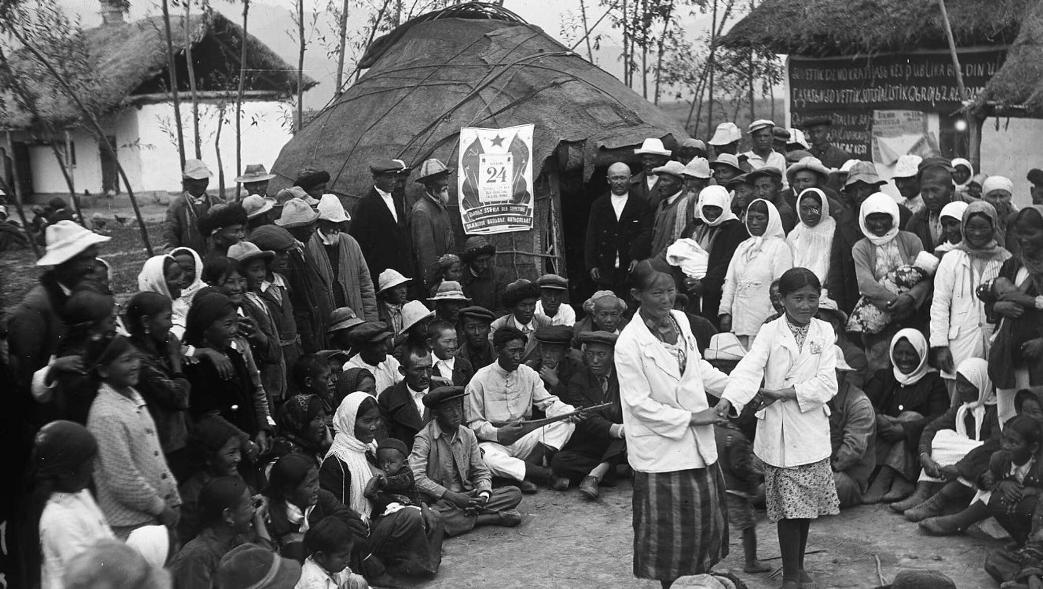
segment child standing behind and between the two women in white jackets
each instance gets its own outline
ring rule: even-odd
[[[728,493],[728,523],[743,532],[746,572],[768,572],[772,567],[757,560],[757,522],[751,498],[756,496],[761,473],[753,466],[753,445],[735,419],[713,426],[721,470]]]

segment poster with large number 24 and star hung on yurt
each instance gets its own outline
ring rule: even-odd
[[[532,228],[534,125],[460,128],[457,174],[463,231],[487,236]]]

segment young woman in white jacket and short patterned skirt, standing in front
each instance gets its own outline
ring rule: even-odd
[[[840,513],[826,406],[836,394],[836,348],[832,327],[815,318],[821,293],[806,268],[782,274],[785,313],[757,335],[715,408],[720,417],[758,408],[753,451],[765,463],[768,520],[778,524],[783,589],[814,583],[804,571],[811,519]]]

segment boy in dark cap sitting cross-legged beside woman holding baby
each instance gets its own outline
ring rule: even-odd
[[[517,487],[492,489],[478,438],[463,427],[463,387],[439,387],[423,397],[434,419],[416,435],[409,465],[416,487],[438,513],[445,534],[458,536],[477,525],[514,526],[522,522]]]

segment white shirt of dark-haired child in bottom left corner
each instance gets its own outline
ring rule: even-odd
[[[90,491],[52,493],[40,516],[43,589],[62,589],[62,575],[73,557],[88,550],[98,540],[113,539],[105,516]]]

